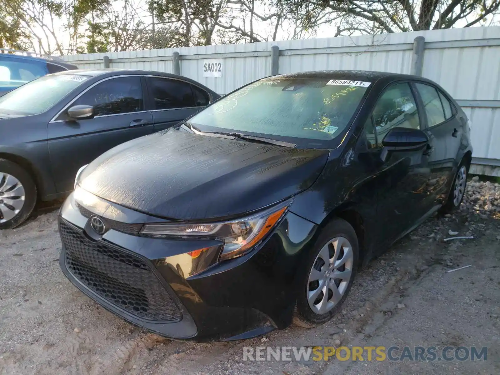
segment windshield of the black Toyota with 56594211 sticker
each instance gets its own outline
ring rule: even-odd
[[[198,112],[188,121],[202,131],[228,131],[326,146],[349,123],[369,82],[264,78]]]

